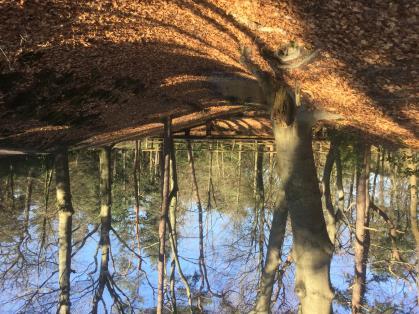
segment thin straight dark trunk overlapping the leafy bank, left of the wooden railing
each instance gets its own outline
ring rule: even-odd
[[[165,250],[166,250],[166,222],[168,220],[170,202],[170,142],[172,137],[172,121],[168,117],[164,121],[164,140],[162,152],[162,204],[159,222],[159,261],[157,264],[157,314],[163,313],[164,305],[164,273],[165,273]]]

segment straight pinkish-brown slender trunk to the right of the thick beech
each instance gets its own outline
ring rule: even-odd
[[[365,294],[366,268],[370,235],[369,226],[369,163],[370,146],[359,145],[356,182],[355,277],[352,288],[352,313],[361,313]]]

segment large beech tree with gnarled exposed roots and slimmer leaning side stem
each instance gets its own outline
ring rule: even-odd
[[[277,168],[281,181],[281,189],[278,193],[283,193],[280,208],[285,206],[289,210],[293,232],[292,255],[296,263],[295,291],[300,299],[302,313],[331,313],[333,291],[329,270],[333,245],[329,239],[323,216],[312,150],[312,127],[319,120],[339,117],[323,111],[309,110],[301,104],[299,90],[296,88],[293,94],[281,79],[284,69],[304,64],[301,62],[299,52],[294,55],[295,60],[292,55],[287,56],[285,66],[283,63],[285,58],[282,59],[280,55],[273,54],[262,44],[259,48],[275,76],[256,66],[246,47],[242,50],[241,61],[256,77],[260,86],[260,93],[255,95],[255,98],[260,99],[262,95],[263,103],[260,105],[271,112],[277,151]],[[304,60],[309,61],[311,58],[312,55],[308,55],[304,57]],[[293,61],[295,64],[292,64]],[[224,90],[228,91],[229,96],[242,98],[237,87],[231,89],[224,87]],[[235,91],[238,93],[234,94]],[[285,218],[286,215],[282,214],[278,217]],[[275,229],[283,224],[283,221],[276,220],[275,224],[272,224],[271,232],[274,230],[276,233]],[[258,294],[255,307],[256,313],[270,311],[273,274],[280,262],[278,252],[283,237],[281,237],[282,228],[278,229],[279,232],[270,238],[262,275],[262,289]],[[273,255],[271,255],[272,250],[276,251]]]

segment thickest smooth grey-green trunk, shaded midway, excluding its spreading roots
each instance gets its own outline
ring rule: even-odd
[[[316,120],[333,116],[298,111],[285,88],[279,88],[274,95],[271,117],[279,177],[294,237],[295,290],[300,299],[301,313],[331,313],[333,292],[329,269],[333,246],[323,216],[311,128]],[[266,307],[258,311],[267,312]]]

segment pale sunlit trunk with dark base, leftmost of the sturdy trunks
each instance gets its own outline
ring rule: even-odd
[[[57,312],[70,313],[70,273],[73,206],[71,204],[70,177],[67,150],[55,155],[55,180],[58,207],[58,274],[59,305]]]

